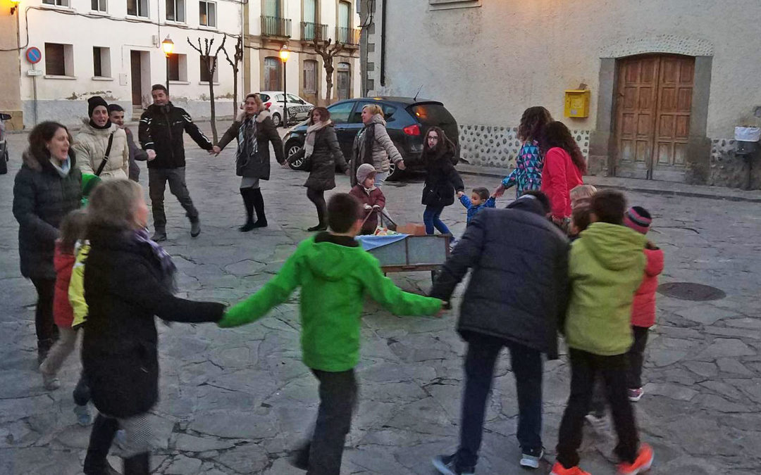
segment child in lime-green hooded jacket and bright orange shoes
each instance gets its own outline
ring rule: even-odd
[[[627,356],[632,346],[632,302],[645,272],[647,238],[623,225],[626,198],[613,190],[591,198],[591,224],[573,242],[568,260],[571,295],[565,342],[571,365],[571,394],[560,423],[552,475],[588,475],[578,467],[584,416],[596,378],[602,378],[618,435],[619,473],[647,470],[653,451],[639,444],[627,391]]]

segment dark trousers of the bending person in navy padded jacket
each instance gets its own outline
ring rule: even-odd
[[[492,389],[494,366],[502,347],[510,350],[518,399],[517,439],[524,453],[542,451],[542,354],[522,344],[470,332],[466,335],[465,394],[463,396],[458,467],[476,467],[481,447],[486,401]]]

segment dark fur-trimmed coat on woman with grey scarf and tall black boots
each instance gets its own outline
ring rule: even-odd
[[[256,154],[253,156],[248,151],[244,133],[241,131],[241,127],[246,124],[247,120],[256,121]],[[237,176],[269,180],[268,141],[272,142],[272,148],[275,150],[275,160],[281,164],[285,162],[283,142],[277,128],[275,128],[275,123],[272,122],[269,110],[263,110],[251,118],[248,118],[245,112],[241,112],[228,128],[228,131],[224,132],[217,146],[224,148],[233,139],[237,140],[237,152],[235,153],[235,173]]]

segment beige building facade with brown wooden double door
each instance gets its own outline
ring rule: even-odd
[[[471,163],[511,168],[521,113],[541,105],[572,129],[591,173],[761,187],[758,155],[749,166],[734,153],[734,128],[761,125],[759,2],[361,7],[363,89],[441,100]],[[566,116],[566,90],[589,91],[587,116]]]

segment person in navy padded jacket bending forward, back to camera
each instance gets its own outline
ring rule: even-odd
[[[537,468],[542,448],[542,353],[557,359],[557,328],[568,292],[568,239],[547,220],[546,195],[528,192],[506,210],[476,214],[431,289],[448,301],[473,269],[457,331],[465,358],[460,448],[434,466],[449,475],[473,473],[481,445],[486,400],[502,347],[510,350],[518,399],[521,466]]]

